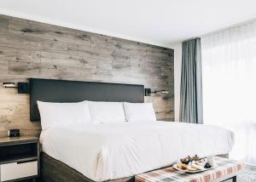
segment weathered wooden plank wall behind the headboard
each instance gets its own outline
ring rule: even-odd
[[[86,31],[0,15],[0,136],[10,128],[38,135],[29,121],[29,95],[2,82],[29,77],[144,84],[157,118],[174,121],[173,50]]]

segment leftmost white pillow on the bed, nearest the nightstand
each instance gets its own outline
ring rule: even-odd
[[[38,101],[42,129],[91,122],[87,102],[54,103]]]

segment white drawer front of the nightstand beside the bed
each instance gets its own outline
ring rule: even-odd
[[[38,175],[38,161],[6,163],[0,168],[1,181]]]

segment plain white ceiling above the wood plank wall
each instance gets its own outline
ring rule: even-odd
[[[256,1],[1,0],[0,14],[168,47],[256,18]]]

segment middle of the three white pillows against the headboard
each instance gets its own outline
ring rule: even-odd
[[[95,123],[125,122],[123,102],[88,101],[88,107]]]

